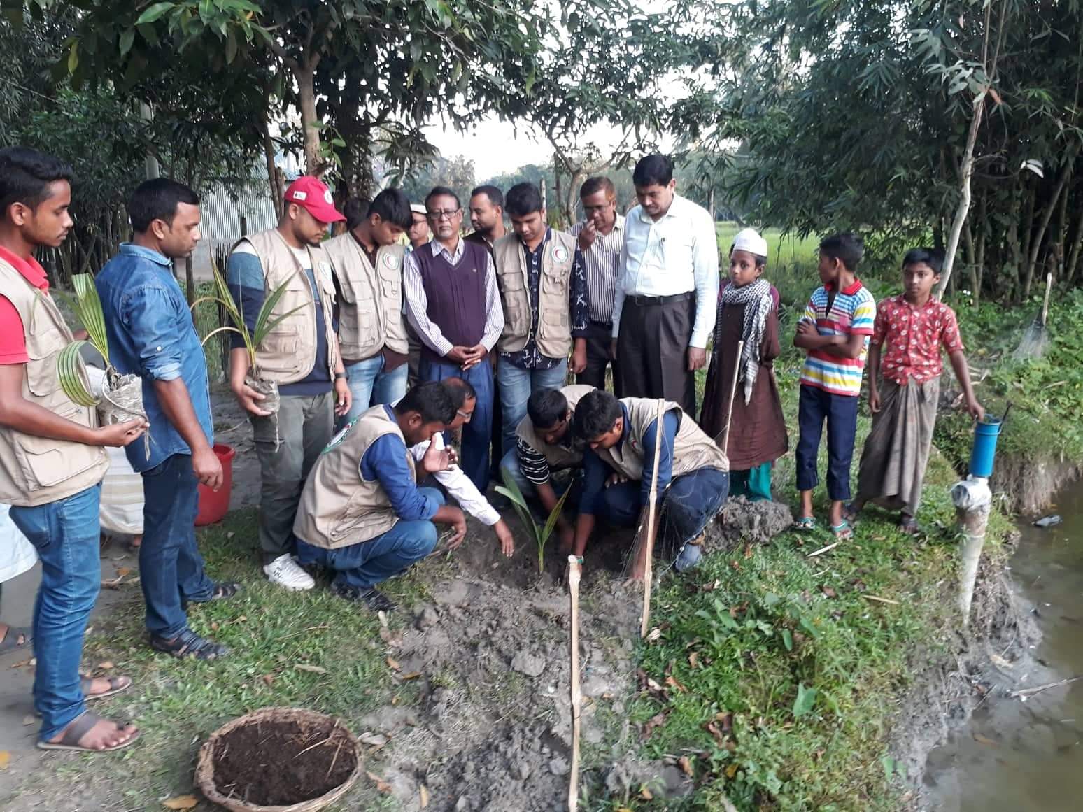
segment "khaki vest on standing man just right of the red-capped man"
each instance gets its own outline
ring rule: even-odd
[[[339,352],[350,361],[365,361],[383,346],[405,355],[403,318],[403,246],[381,246],[376,267],[350,232],[324,244],[335,266],[342,301],[339,303]]]

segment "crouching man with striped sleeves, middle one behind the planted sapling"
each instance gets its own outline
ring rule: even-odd
[[[531,394],[526,417],[516,429],[516,447],[500,460],[500,471],[526,499],[536,496],[547,516],[583,470],[583,443],[572,433],[572,419],[575,405],[593,389],[573,384]],[[563,514],[557,520],[557,532],[561,545],[570,548],[575,531]]]

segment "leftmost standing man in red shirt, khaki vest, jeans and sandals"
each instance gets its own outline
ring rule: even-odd
[[[61,389],[56,356],[73,341],[34,259],[71,228],[70,169],[34,149],[0,149],[0,501],[41,559],[34,610],[38,747],[116,750],[139,736],[87,710],[87,696],[131,685],[79,676],[82,636],[101,585],[99,499],[108,458],[143,434],[132,420],[97,427]]]

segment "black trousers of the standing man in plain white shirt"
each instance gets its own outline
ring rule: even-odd
[[[664,397],[695,415],[695,374],[688,371],[688,342],[695,293],[665,301],[624,300],[616,346],[622,397]]]

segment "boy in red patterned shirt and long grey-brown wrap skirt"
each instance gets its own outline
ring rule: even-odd
[[[849,521],[867,501],[901,510],[899,526],[917,533],[925,467],[940,397],[943,364],[951,358],[963,388],[966,410],[980,420],[986,410],[974,396],[955,313],[932,299],[943,252],[914,248],[902,260],[904,292],[879,303],[869,351],[869,408],[873,429],[861,453],[858,498],[847,509]],[[885,342],[887,349],[884,349]],[[883,358],[883,363],[882,363]],[[883,381],[877,383],[877,372]]]

